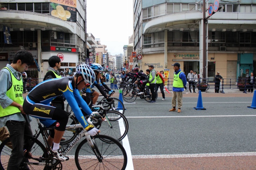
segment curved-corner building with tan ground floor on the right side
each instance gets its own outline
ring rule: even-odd
[[[207,1],[206,9],[213,3]],[[220,72],[223,78],[236,79],[241,73],[256,73],[256,0],[219,3],[222,8],[212,16],[207,11],[209,18],[203,20],[203,1],[134,0],[134,51],[143,56],[141,68],[155,65],[158,71],[169,69],[173,77],[171,64],[179,62],[186,75],[202,72],[206,50],[207,77]]]

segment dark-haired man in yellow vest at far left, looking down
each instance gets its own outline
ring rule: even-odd
[[[23,82],[20,72],[24,72],[34,63],[32,54],[26,50],[16,52],[12,64],[0,71],[0,127],[6,126],[10,133],[12,154],[7,170],[19,169],[23,160],[24,148],[29,141],[24,135],[32,136],[31,117],[23,110]],[[28,167],[25,167],[28,168]]]

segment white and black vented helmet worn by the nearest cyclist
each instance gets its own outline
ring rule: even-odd
[[[82,63],[76,66],[76,72],[83,76],[85,83],[93,84],[95,81],[95,73],[89,65]]]

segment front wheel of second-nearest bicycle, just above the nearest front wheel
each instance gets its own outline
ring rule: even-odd
[[[113,137],[117,141],[121,141],[127,135],[128,129],[129,124],[126,117],[118,111],[110,110],[106,113],[106,120],[101,123],[100,134],[107,135]]]

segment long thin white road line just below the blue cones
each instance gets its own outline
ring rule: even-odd
[[[209,116],[125,116],[126,118],[207,118],[207,117],[242,117],[256,115],[209,115]]]

